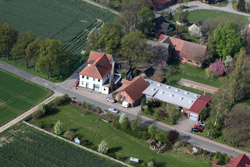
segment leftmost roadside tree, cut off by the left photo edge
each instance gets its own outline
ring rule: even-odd
[[[18,31],[12,28],[9,24],[0,24],[0,54],[10,57],[12,47],[17,41]]]

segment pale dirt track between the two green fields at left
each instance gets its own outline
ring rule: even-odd
[[[16,117],[12,121],[10,121],[10,122],[4,124],[3,126],[1,126],[0,127],[0,133],[2,133],[3,131],[5,131],[6,129],[10,128],[11,126],[15,125],[19,121],[23,120],[24,118],[26,118],[27,116],[29,116],[33,112],[35,112],[38,109],[39,105],[41,105],[41,104],[48,104],[49,102],[51,102],[52,100],[54,100],[56,97],[61,96],[61,95],[62,95],[61,93],[55,92],[52,96],[50,96],[49,98],[45,99],[40,104],[36,105],[35,107],[31,108],[27,112],[23,113],[22,115],[19,115],[18,117]]]

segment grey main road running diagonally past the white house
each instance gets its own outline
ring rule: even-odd
[[[27,73],[27,72],[25,72],[23,70],[20,70],[20,69],[14,67],[14,66],[11,66],[11,65],[6,64],[6,63],[1,62],[1,61],[0,61],[0,68],[4,69],[6,71],[9,71],[9,72],[11,72],[11,73],[13,73],[15,75],[18,75],[18,76],[20,76],[22,78],[25,78],[25,79],[27,79],[27,80],[29,80],[31,82],[37,83],[37,84],[39,84],[41,86],[44,86],[44,87],[46,87],[48,89],[51,89],[53,91],[57,91],[57,92],[60,92],[62,94],[68,94],[70,97],[76,97],[77,99],[86,101],[86,102],[88,102],[88,103],[90,103],[92,105],[101,107],[103,109],[108,109],[110,107],[109,105],[98,102],[95,99],[91,99],[91,98],[89,98],[87,96],[77,94],[77,93],[71,91],[71,89],[68,89],[66,87],[61,86],[63,84],[59,85],[59,84],[52,83],[50,81],[42,79],[42,78],[40,78],[38,76],[35,76],[33,74]],[[122,111],[122,112],[125,112],[125,111]],[[133,113],[133,112],[126,112],[126,113],[127,113],[127,116],[130,119],[135,119],[136,118],[136,113]],[[213,152],[219,151],[221,153],[226,153],[229,156],[233,156],[233,157],[244,153],[248,157],[250,157],[250,153],[238,150],[236,148],[232,148],[232,147],[224,145],[224,144],[217,143],[215,141],[212,141],[212,140],[209,140],[209,139],[194,135],[194,134],[189,133],[189,132],[184,132],[184,131],[182,131],[180,129],[177,129],[177,128],[174,128],[174,127],[169,126],[167,124],[155,121],[155,120],[153,120],[151,118],[147,118],[145,116],[142,116],[142,123],[144,123],[146,125],[155,124],[156,127],[160,128],[160,129],[163,129],[163,130],[177,130],[180,133],[180,137],[182,139],[185,139],[189,143],[191,143],[191,144],[193,144],[195,146],[207,149],[209,151],[213,151]]]

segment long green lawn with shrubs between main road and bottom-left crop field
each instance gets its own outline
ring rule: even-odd
[[[137,157],[143,161],[154,158],[160,166],[171,167],[206,167],[209,162],[168,151],[164,154],[157,154],[156,151],[149,149],[149,144],[143,140],[129,136],[121,131],[114,129],[110,124],[100,121],[100,117],[94,114],[85,114],[80,108],[73,105],[61,106],[47,117],[40,120],[31,121],[39,125],[54,124],[61,120],[65,130],[73,129],[75,135],[81,140],[88,141],[91,148],[97,148],[98,144],[105,140],[109,144],[110,152],[120,157]]]

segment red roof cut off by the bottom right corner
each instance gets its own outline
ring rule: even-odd
[[[250,160],[245,154],[241,154],[231,159],[225,167],[250,167]]]

